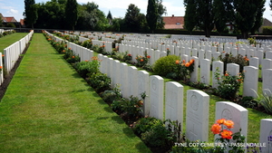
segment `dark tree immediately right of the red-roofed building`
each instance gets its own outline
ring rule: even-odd
[[[183,2],[186,7],[184,15],[184,28],[191,34],[198,22],[196,13],[197,5],[195,0],[184,0]]]

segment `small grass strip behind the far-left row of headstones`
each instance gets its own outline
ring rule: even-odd
[[[24,36],[28,33],[13,33],[9,35],[5,35],[5,37],[0,38],[0,53],[4,52],[4,49],[9,45],[19,41],[24,38]]]

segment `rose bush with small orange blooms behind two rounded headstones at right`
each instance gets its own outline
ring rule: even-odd
[[[222,58],[222,55],[220,55],[219,60],[221,62],[224,62],[224,72],[226,72],[227,70],[228,63],[237,63],[239,65],[239,72],[243,72],[244,66],[249,65],[248,57],[243,57],[240,54],[238,54],[237,56],[232,56],[232,54],[226,53],[224,58]]]

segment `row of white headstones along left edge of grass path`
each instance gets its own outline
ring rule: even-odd
[[[14,68],[15,62],[19,59],[20,54],[24,52],[24,49],[29,43],[30,39],[33,36],[34,31],[31,31],[27,35],[24,36],[24,38],[20,39],[19,41],[9,45],[4,49],[4,53],[0,54],[0,66],[2,69],[0,70],[0,85],[4,81],[4,65],[5,65],[5,70],[7,74]],[[4,62],[2,61],[2,55],[4,56]]]

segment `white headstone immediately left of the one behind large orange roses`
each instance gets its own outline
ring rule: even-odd
[[[190,141],[208,141],[209,95],[203,91],[187,91],[186,138]]]

